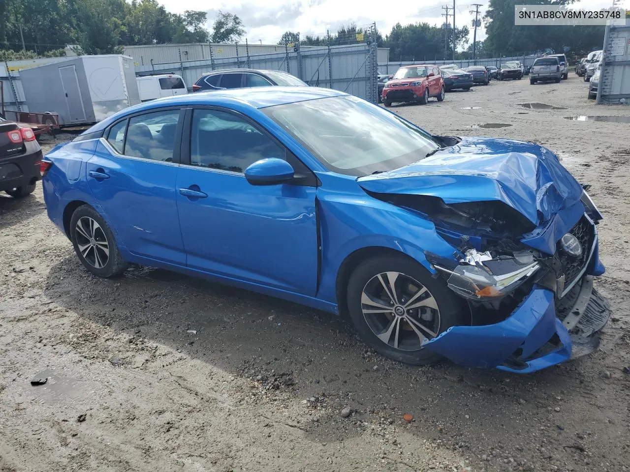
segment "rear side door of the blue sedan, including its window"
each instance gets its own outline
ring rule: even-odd
[[[116,237],[133,254],[186,264],[175,199],[180,110],[115,123],[86,163],[89,189]]]

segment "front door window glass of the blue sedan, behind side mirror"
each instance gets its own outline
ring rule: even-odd
[[[217,110],[193,111],[190,164],[244,172],[256,160],[285,159],[285,150],[240,116]]]

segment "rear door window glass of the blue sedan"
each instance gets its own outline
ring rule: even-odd
[[[129,119],[125,155],[171,162],[179,110],[156,111]]]

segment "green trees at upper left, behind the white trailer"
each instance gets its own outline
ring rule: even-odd
[[[224,29],[237,24],[243,34],[237,16],[227,20]],[[102,54],[123,45],[207,42],[206,21],[205,11],[169,13],[156,0],[0,0],[0,48],[20,51],[22,37],[37,57],[69,44]]]

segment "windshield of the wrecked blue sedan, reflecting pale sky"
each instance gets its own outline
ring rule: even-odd
[[[328,169],[349,176],[392,171],[440,148],[427,132],[353,96],[287,103],[262,111]]]

